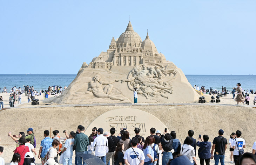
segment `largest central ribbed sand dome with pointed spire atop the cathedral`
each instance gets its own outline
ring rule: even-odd
[[[129,21],[129,24],[126,28],[126,31],[124,31],[124,33],[122,33],[120,35],[120,37],[117,40],[117,44],[121,44],[121,43],[137,43],[137,44],[140,44],[141,41],[142,41],[141,37],[139,36],[139,34],[137,34],[133,30],[133,26],[132,26],[131,22]]]

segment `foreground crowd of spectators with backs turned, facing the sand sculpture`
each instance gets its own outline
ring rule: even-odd
[[[83,154],[92,154],[99,157],[105,165],[158,165],[159,158],[162,165],[199,165],[196,161],[196,148],[200,165],[210,164],[210,159],[214,158],[215,165],[220,162],[224,165],[225,151],[229,145],[231,153],[230,163],[245,165],[243,162],[256,164],[256,142],[253,144],[252,153],[244,153],[245,140],[241,138],[242,132],[237,130],[232,132],[229,141],[223,137],[224,131],[220,129],[218,136],[209,142],[208,135],[199,135],[198,139],[193,138],[194,131],[189,130],[188,136],[181,144],[176,137],[176,132],[164,129],[156,131],[150,129],[150,135],[144,139],[140,136],[140,129],[135,128],[135,136],[131,137],[127,129],[122,129],[117,136],[116,129],[110,128],[107,132],[102,128],[94,127],[92,134],[85,134],[85,127],[78,125],[77,130],[67,131],[65,137],[61,137],[59,130],[53,131],[53,137],[49,137],[50,132],[45,130],[45,137],[40,143],[39,153],[36,153],[36,139],[33,128],[28,128],[25,136],[24,132],[19,135],[8,133],[16,143],[13,159],[10,165],[34,165],[33,153],[41,159],[43,165],[72,165],[73,151],[75,151],[75,165],[86,164]],[[4,148],[0,146],[0,155]],[[162,156],[161,156],[162,155]],[[60,156],[58,161],[58,156]],[[250,164],[250,165],[252,165]],[[4,165],[4,159],[0,157],[0,165]]]

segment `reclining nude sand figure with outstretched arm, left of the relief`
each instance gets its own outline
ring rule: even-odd
[[[120,100],[123,101],[123,98],[117,98],[115,96],[109,95],[109,93],[112,91],[113,83],[118,80],[112,80],[112,81],[100,81],[100,76],[96,75],[94,77],[94,81],[89,82],[88,91],[93,92],[94,96],[97,98],[109,98],[112,100]],[[103,89],[102,86],[106,85]]]

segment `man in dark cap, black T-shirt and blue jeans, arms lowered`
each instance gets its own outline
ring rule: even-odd
[[[221,165],[225,165],[225,151],[227,149],[228,141],[226,138],[223,137],[224,131],[220,129],[218,131],[217,137],[213,139],[213,146],[211,148],[211,155],[213,155],[214,151],[214,162],[215,165],[218,165],[219,160],[221,162]]]

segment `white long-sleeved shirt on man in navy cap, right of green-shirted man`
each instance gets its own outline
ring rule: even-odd
[[[96,145],[96,146],[95,146]],[[95,156],[105,156],[108,153],[108,139],[102,134],[93,141]]]

